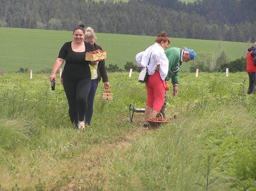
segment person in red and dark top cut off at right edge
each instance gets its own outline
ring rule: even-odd
[[[256,85],[256,42],[248,49],[246,71],[249,75],[249,88],[247,94],[254,93]]]

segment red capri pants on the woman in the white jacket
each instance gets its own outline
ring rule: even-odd
[[[152,76],[148,76],[146,87],[148,96],[146,105],[152,107],[154,110],[159,112],[164,105],[165,88],[164,80],[162,80],[162,78],[160,77],[159,71],[155,71]]]

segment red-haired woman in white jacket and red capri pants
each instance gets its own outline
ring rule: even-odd
[[[164,104],[164,79],[167,76],[169,67],[169,61],[164,54],[164,50],[168,48],[170,42],[163,31],[157,36],[155,44],[136,55],[138,65],[141,65],[143,68],[148,67],[149,75],[146,82],[147,103],[143,125],[145,129],[148,128],[147,120],[150,117],[155,118]]]

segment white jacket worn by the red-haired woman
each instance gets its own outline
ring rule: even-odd
[[[149,57],[150,62],[148,65]],[[136,61],[138,67],[146,68],[148,66],[148,75],[153,75],[156,70],[156,65],[160,64],[159,73],[162,80],[164,80],[167,76],[169,61],[164,54],[164,49],[157,42],[155,42],[155,44],[153,44],[152,46],[148,47],[145,51],[138,53],[136,55]]]

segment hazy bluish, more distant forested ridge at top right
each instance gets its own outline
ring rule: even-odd
[[[237,24],[245,21],[254,22],[253,15],[256,1],[248,0],[196,0],[184,3],[179,0],[139,0],[141,3],[168,7],[175,11],[195,11],[211,24]]]

